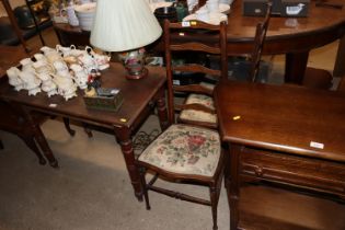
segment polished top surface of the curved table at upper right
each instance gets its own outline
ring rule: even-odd
[[[345,2],[342,0],[329,0],[332,3],[343,4],[343,9],[315,7],[315,0],[310,0],[307,18],[280,18],[272,16],[267,37],[299,36],[307,33],[317,33],[336,25],[345,25]],[[251,38],[255,34],[255,26],[264,18],[243,16],[242,1],[234,0],[229,14],[228,37],[231,39]]]

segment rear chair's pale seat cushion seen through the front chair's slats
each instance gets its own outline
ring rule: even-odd
[[[204,94],[193,93],[187,97],[185,103],[186,104],[192,104],[192,103],[202,104],[209,108],[215,110],[212,97],[208,95],[204,95]],[[216,114],[210,114],[210,113],[196,111],[196,110],[183,110],[180,114],[180,119],[217,124]]]

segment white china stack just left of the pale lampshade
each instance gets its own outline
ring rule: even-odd
[[[79,4],[74,7],[77,18],[79,20],[79,26],[83,31],[91,31],[93,24],[93,18],[95,14],[95,2]]]

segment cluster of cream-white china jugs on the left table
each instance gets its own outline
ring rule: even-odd
[[[91,47],[82,50],[76,46],[44,46],[41,51],[33,59],[22,59],[21,68],[7,70],[9,83],[16,91],[27,90],[28,95],[43,91],[49,97],[59,94],[67,101],[77,96],[78,88],[88,88],[91,76],[100,76],[100,70],[110,67],[110,57],[96,54]]]

